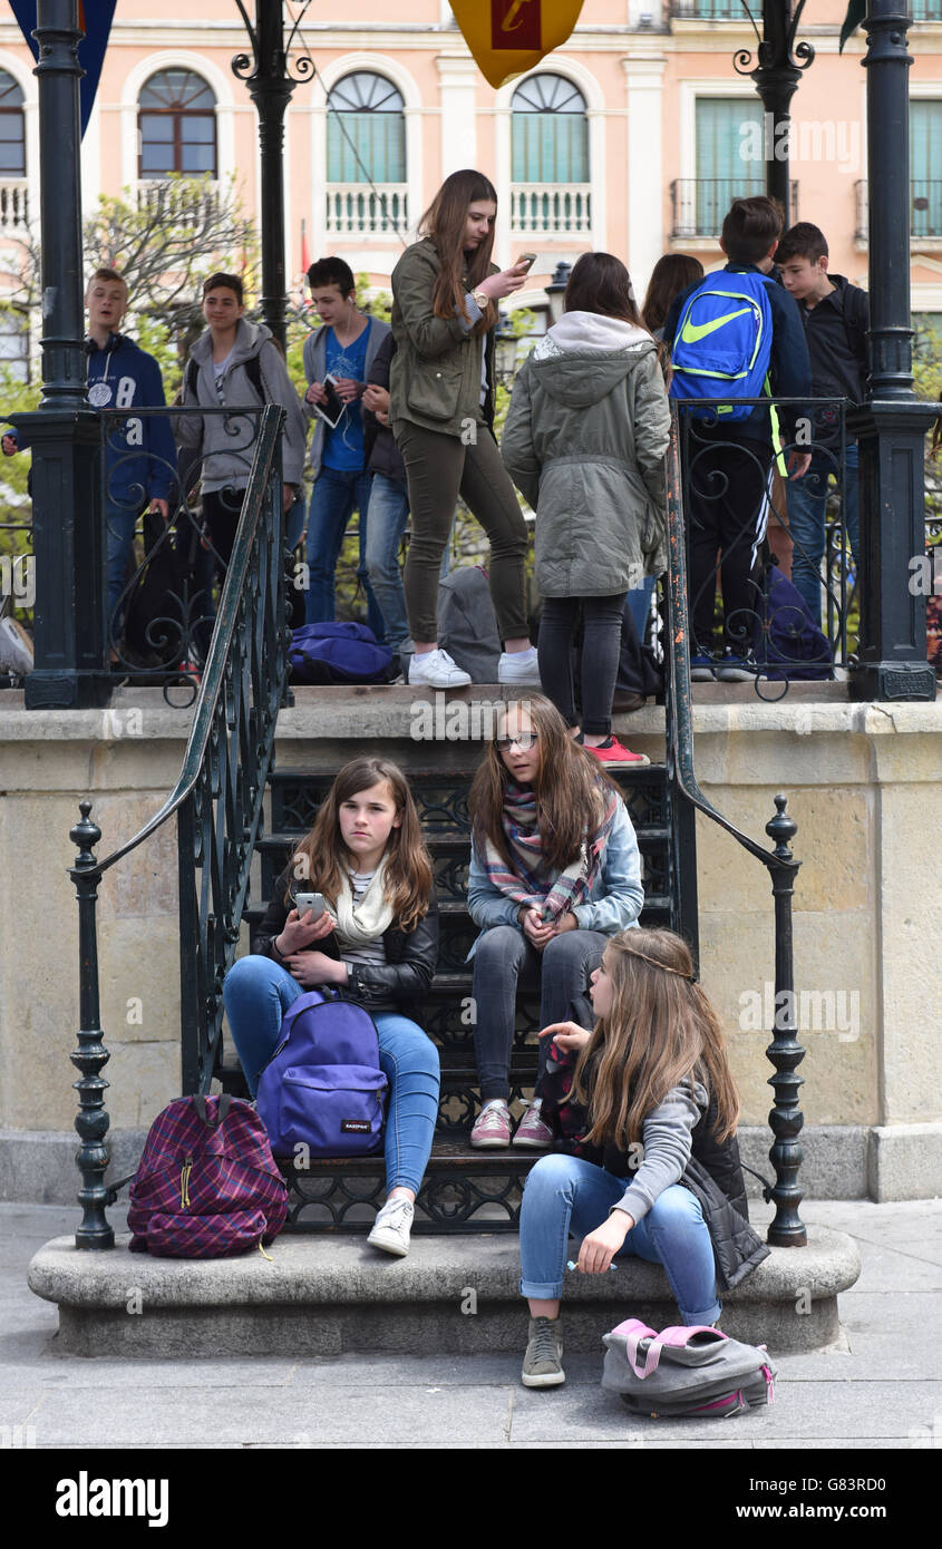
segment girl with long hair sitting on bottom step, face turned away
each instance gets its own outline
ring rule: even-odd
[[[578,1055],[572,1086],[547,1075],[544,1112],[578,1115],[575,1154],[541,1157],[521,1207],[521,1292],[530,1303],[524,1385],[566,1380],[559,1298],[567,1238],[583,1238],[576,1269],[604,1273],[618,1253],[663,1264],[685,1324],[720,1315],[711,1236],[714,1213],[680,1187],[700,1143],[703,1163],[722,1188],[722,1205],[742,1214],[733,1252],[744,1275],[767,1250],[748,1228],[734,1132],[739,1098],[722,1029],[696,982],[689,948],[672,931],[623,931],[606,943],[592,974],[593,1032],[552,1022],[541,1039],[552,1058]],[[559,1055],[556,1055],[556,1050]],[[548,1066],[553,1072],[553,1066]],[[725,1218],[724,1218],[725,1219]],[[724,1230],[730,1233],[730,1227]],[[751,1255],[751,1258],[750,1258]],[[742,1267],[747,1264],[747,1269]]]

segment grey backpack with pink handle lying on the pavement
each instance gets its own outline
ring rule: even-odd
[[[655,1334],[626,1318],[603,1338],[601,1385],[632,1414],[727,1419],[775,1400],[775,1368],[764,1345],[742,1345],[699,1324]]]

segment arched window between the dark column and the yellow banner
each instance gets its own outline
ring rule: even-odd
[[[403,98],[386,76],[356,70],[327,98],[327,181],[404,183]]]

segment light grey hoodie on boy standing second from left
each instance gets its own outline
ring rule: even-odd
[[[307,440],[307,421],[294,392],[294,384],[288,376],[288,367],[277,344],[271,338],[271,330],[263,322],[248,322],[239,319],[236,330],[236,345],[223,376],[223,403],[220,404],[212,372],[212,333],[206,328],[194,344],[191,359],[197,362],[197,397],[189,390],[186,373],[183,378],[184,407],[200,404],[205,409],[218,409],[232,404],[245,409],[259,403],[259,395],[245,370],[245,361],[253,355],[259,356],[262,383],[266,389],[266,403],[280,403],[287,410],[285,431],[282,435],[282,477],[285,483],[299,485],[304,474],[304,443]],[[208,414],[180,415],[177,420],[177,440],[180,446],[194,446],[203,457],[203,489],[245,489],[254,455],[256,420],[240,420],[239,415]],[[236,431],[236,434],[232,434]]]

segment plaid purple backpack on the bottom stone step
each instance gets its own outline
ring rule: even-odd
[[[156,1115],[130,1185],[132,1253],[232,1258],[271,1242],[288,1187],[251,1103],[178,1097]]]

